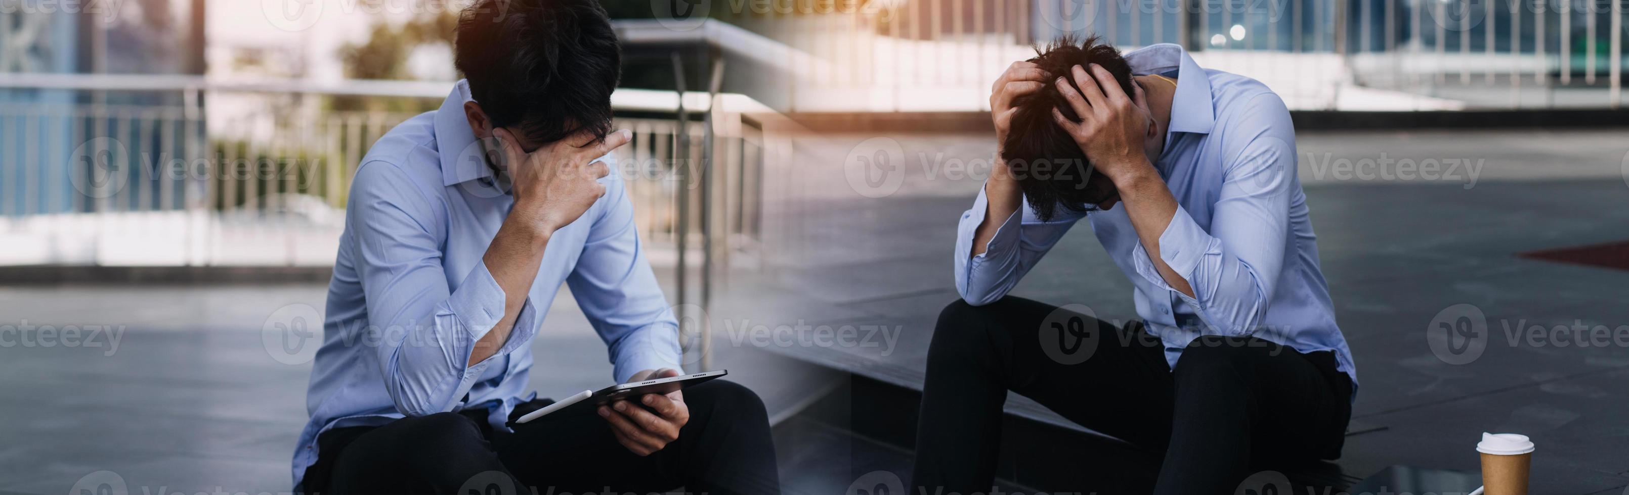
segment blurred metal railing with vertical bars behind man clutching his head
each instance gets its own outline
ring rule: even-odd
[[[1008,62],[1060,34],[1176,42],[1292,109],[1619,107],[1624,2],[901,0],[774,21],[826,62],[790,111],[981,111]]]

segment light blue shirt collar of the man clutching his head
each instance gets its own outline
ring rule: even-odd
[[[1150,44],[1127,52],[1126,64],[1135,75],[1168,73],[1176,70],[1176,96],[1171,98],[1171,124],[1165,142],[1171,142],[1171,134],[1197,132],[1210,134],[1215,125],[1215,107],[1210,99],[1210,77],[1188,55],[1179,44]]]

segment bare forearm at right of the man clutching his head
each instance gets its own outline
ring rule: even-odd
[[[1114,177],[1114,187],[1119,189],[1121,204],[1126,205],[1126,217],[1131,218],[1131,225],[1137,231],[1137,239],[1142,241],[1142,249],[1148,252],[1148,261],[1160,272],[1160,278],[1165,278],[1165,283],[1171,288],[1194,296],[1194,288],[1188,285],[1188,278],[1171,270],[1171,265],[1165,264],[1165,259],[1160,257],[1160,236],[1165,234],[1165,228],[1171,225],[1171,217],[1176,215],[1176,197],[1171,195],[1171,189],[1160,179],[1160,173],[1153,169],[1153,164],[1144,161]]]

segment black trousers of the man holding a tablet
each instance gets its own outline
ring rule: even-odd
[[[542,407],[534,401],[515,417]],[[305,492],[321,495],[780,493],[764,404],[723,379],[684,389],[679,440],[640,458],[599,415],[538,420],[495,431],[484,410],[336,428],[318,440]],[[476,493],[471,493],[476,492]]]

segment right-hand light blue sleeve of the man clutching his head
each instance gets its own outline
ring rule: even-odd
[[[1258,96],[1254,111],[1228,124],[1223,182],[1210,231],[1178,207],[1160,234],[1160,259],[1188,280],[1194,295],[1173,290],[1139,243],[1137,274],[1199,309],[1209,332],[1248,335],[1264,321],[1289,249],[1295,177],[1295,129],[1284,101]]]

